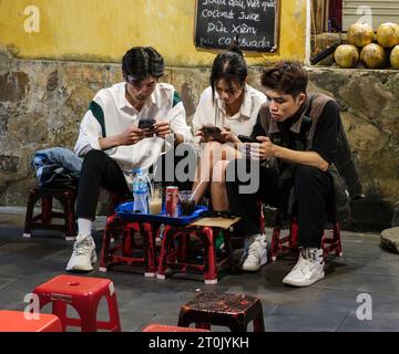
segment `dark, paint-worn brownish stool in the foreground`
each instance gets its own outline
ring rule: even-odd
[[[178,326],[211,330],[211,325],[228,327],[232,332],[246,332],[253,321],[254,332],[265,332],[262,303],[246,294],[200,293],[181,308]]]

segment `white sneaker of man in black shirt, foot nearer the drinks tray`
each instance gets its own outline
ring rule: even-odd
[[[262,266],[267,263],[266,236],[263,233],[254,235],[249,238],[247,244],[247,252],[244,251],[242,258],[242,269],[249,272],[256,272]]]

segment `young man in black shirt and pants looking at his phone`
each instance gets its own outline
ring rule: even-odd
[[[260,159],[258,189],[241,194],[245,184],[227,178],[232,212],[242,217],[235,231],[247,236],[243,270],[257,271],[267,261],[257,201],[297,215],[299,259],[283,280],[296,287],[324,278],[320,243],[332,194],[327,169],[335,158],[340,122],[337,103],[326,95],[308,94],[307,82],[298,62],[280,62],[264,71],[262,85],[268,102],[252,134],[259,143],[249,149],[250,159]],[[237,169],[247,168],[250,159],[231,163],[227,174],[237,176]]]

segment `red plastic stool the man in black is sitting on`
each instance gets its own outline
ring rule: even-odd
[[[272,260],[275,261],[277,256],[287,254],[291,251],[298,250],[297,237],[298,237],[298,219],[291,217],[289,219],[289,232],[285,237],[280,237],[284,219],[280,214],[276,215],[275,227],[273,229],[270,254]],[[324,233],[321,238],[323,257],[326,258],[328,253],[335,251],[336,256],[342,256],[342,247],[340,241],[339,223],[332,222],[332,238],[329,238]]]

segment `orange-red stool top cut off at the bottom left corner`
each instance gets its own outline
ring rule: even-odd
[[[62,332],[61,321],[53,314],[39,313],[38,319],[25,319],[25,314],[0,310],[0,332]]]

